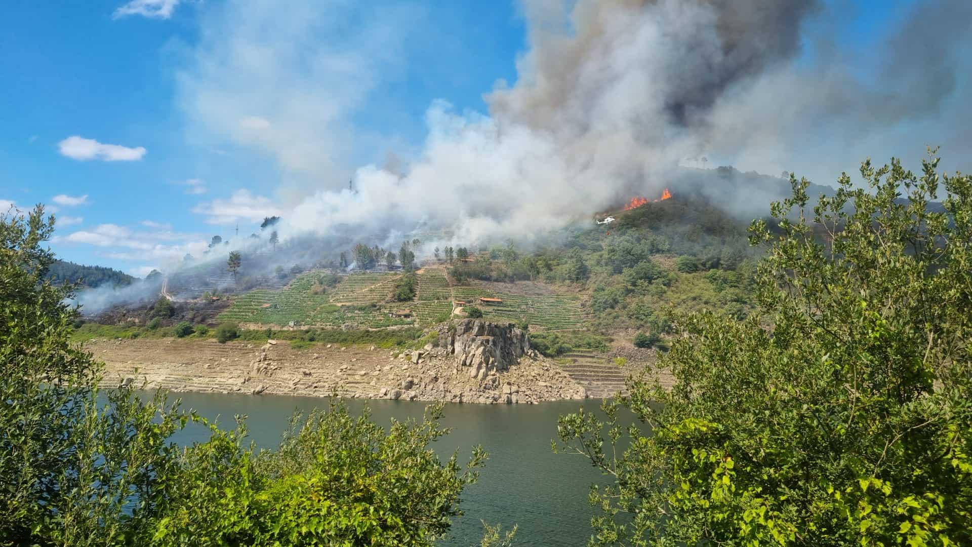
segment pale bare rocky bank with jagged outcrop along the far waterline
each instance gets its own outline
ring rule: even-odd
[[[215,340],[93,340],[105,383],[173,391],[538,403],[581,399],[585,388],[510,324],[467,319],[422,349],[264,345]]]

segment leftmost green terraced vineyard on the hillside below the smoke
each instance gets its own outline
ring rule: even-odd
[[[298,275],[294,281],[279,291],[258,289],[233,298],[232,304],[218,319],[221,321],[236,321],[247,323],[261,323],[266,325],[284,326],[291,321],[299,325],[319,325],[339,327],[353,324],[358,327],[390,327],[393,325],[407,325],[412,321],[389,317],[378,307],[367,306],[387,296],[382,293],[381,298],[373,298],[372,291],[375,279],[367,277],[376,274],[359,274],[345,277],[330,294],[311,294],[310,288],[321,274],[320,271],[309,271]],[[384,283],[387,275],[380,275],[378,284]],[[390,285],[389,285],[390,286]],[[334,301],[358,306],[337,306]]]

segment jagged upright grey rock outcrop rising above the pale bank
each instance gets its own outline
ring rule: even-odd
[[[438,346],[445,355],[456,356],[457,370],[468,367],[469,378],[483,381],[494,372],[505,372],[533,354],[527,333],[512,323],[491,323],[464,319],[455,328],[443,326]]]

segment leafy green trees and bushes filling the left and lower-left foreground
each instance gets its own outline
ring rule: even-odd
[[[258,452],[241,421],[99,390],[70,340],[74,287],[43,281],[52,231],[40,206],[0,215],[0,545],[431,545],[449,528],[485,456],[439,460],[442,405],[386,433],[331,401]],[[191,421],[210,439],[172,444]]]

